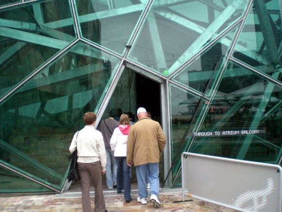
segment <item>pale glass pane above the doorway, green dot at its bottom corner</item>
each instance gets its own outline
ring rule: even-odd
[[[176,0],[160,5],[155,1],[130,59],[163,76],[174,73],[244,14],[247,1],[229,3]]]

